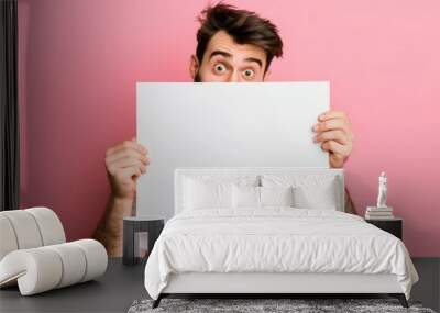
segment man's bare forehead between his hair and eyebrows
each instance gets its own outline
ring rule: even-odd
[[[249,57],[260,58],[264,64],[266,62],[266,52],[255,45],[238,44],[224,31],[217,32],[209,41],[206,55],[209,58],[212,52],[221,51],[232,55],[233,58],[245,59]]]

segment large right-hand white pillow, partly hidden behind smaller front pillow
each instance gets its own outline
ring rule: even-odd
[[[337,177],[326,175],[264,175],[264,187],[293,186],[294,206],[337,210],[339,194]]]

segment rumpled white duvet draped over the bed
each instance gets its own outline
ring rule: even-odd
[[[145,267],[157,299],[169,273],[394,273],[409,299],[418,275],[403,242],[356,215],[330,210],[205,209],[168,221]]]

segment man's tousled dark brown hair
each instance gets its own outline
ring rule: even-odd
[[[197,32],[196,49],[200,64],[209,41],[219,31],[227,32],[238,44],[252,44],[263,48],[267,56],[265,70],[274,57],[283,56],[283,41],[278,29],[254,12],[220,2],[201,11],[197,20],[201,24]]]

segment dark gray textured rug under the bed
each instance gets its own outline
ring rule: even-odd
[[[146,312],[417,312],[435,313],[422,308],[420,302],[409,301],[409,309],[400,305],[396,299],[169,299],[152,309],[153,300],[136,300],[129,313]]]

